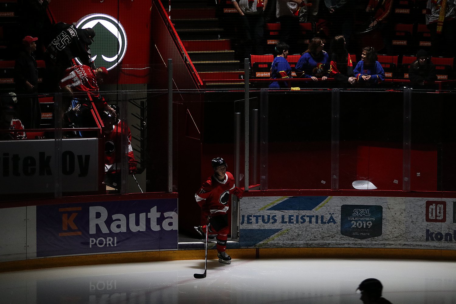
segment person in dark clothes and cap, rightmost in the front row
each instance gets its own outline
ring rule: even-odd
[[[437,80],[435,65],[425,50],[419,50],[416,53],[416,60],[410,64],[409,79],[410,82],[420,86],[424,86],[425,82]]]

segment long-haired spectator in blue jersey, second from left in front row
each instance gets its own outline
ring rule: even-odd
[[[325,44],[320,38],[312,38],[308,49],[296,63],[296,76],[325,81],[329,76],[329,56],[323,51]]]

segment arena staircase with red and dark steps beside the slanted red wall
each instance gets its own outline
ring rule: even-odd
[[[171,22],[208,89],[244,87],[244,62],[236,58],[235,33],[226,24],[235,12],[226,2],[171,0]]]

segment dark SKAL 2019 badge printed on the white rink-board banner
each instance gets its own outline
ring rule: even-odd
[[[366,239],[383,232],[383,207],[370,205],[341,206],[341,234]]]

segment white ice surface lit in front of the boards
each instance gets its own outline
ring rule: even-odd
[[[456,262],[233,259],[124,263],[0,273],[1,304],[356,304],[365,278],[393,304],[456,304]]]

